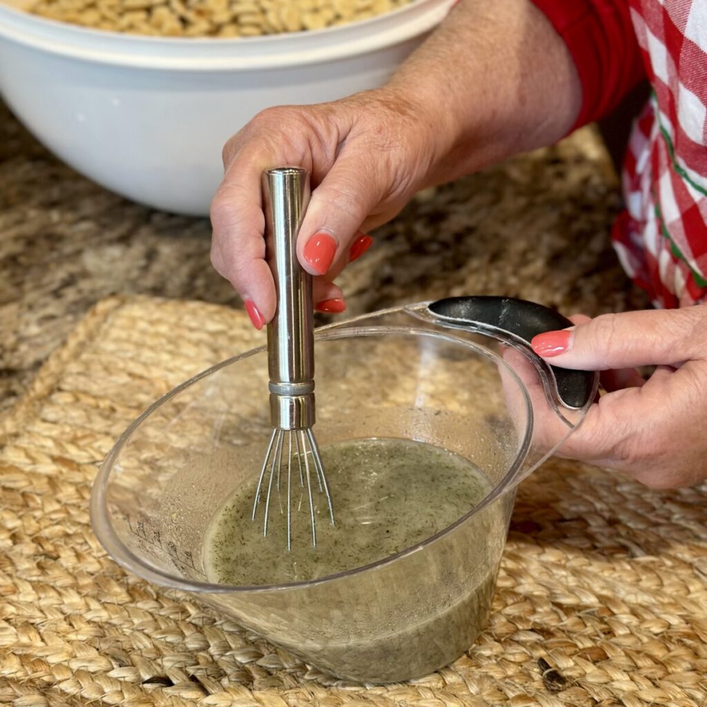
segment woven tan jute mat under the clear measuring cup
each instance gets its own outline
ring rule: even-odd
[[[242,312],[104,300],[2,420],[0,702],[350,707],[707,703],[707,493],[553,460],[522,484],[489,628],[415,682],[354,686],[96,541],[96,468],[156,397],[262,343]]]

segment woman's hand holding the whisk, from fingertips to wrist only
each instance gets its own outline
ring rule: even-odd
[[[424,103],[382,88],[334,103],[264,110],[228,141],[226,173],[211,203],[211,262],[243,297],[258,329],[275,311],[264,260],[264,170],[309,170],[312,197],[298,257],[315,276],[315,308],[340,312],[345,305],[334,278],[368,248],[368,230],[389,221],[421,188],[438,136]]]

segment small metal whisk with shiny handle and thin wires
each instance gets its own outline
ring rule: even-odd
[[[263,534],[267,535],[273,489],[280,491],[281,484],[286,484],[288,550],[292,543],[293,473],[302,489],[300,506],[306,492],[314,547],[317,547],[317,491],[325,495],[329,518],[334,523],[332,498],[312,433],[315,423],[312,277],[302,269],[296,253],[297,234],[309,197],[307,170],[281,167],[264,173],[266,257],[277,292],[277,309],[267,328],[273,430],[258,479],[252,520],[264,496]]]

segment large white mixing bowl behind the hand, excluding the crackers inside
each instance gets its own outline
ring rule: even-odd
[[[2,4],[5,2],[6,4]],[[0,0],[0,91],[73,168],[129,199],[205,215],[221,148],[259,110],[380,86],[452,0],[370,20],[241,39],[87,30]]]

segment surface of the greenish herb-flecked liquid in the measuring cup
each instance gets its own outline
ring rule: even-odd
[[[211,521],[206,538],[209,580],[267,585],[355,569],[444,530],[491,490],[471,462],[425,443],[352,440],[320,451],[336,523],[331,525],[325,496],[316,491],[317,547],[312,547],[306,484],[300,487],[298,473],[292,474],[289,552],[286,473],[281,474],[281,489],[272,489],[267,537],[262,535],[264,498],[255,522],[251,520],[254,481],[230,496]]]

